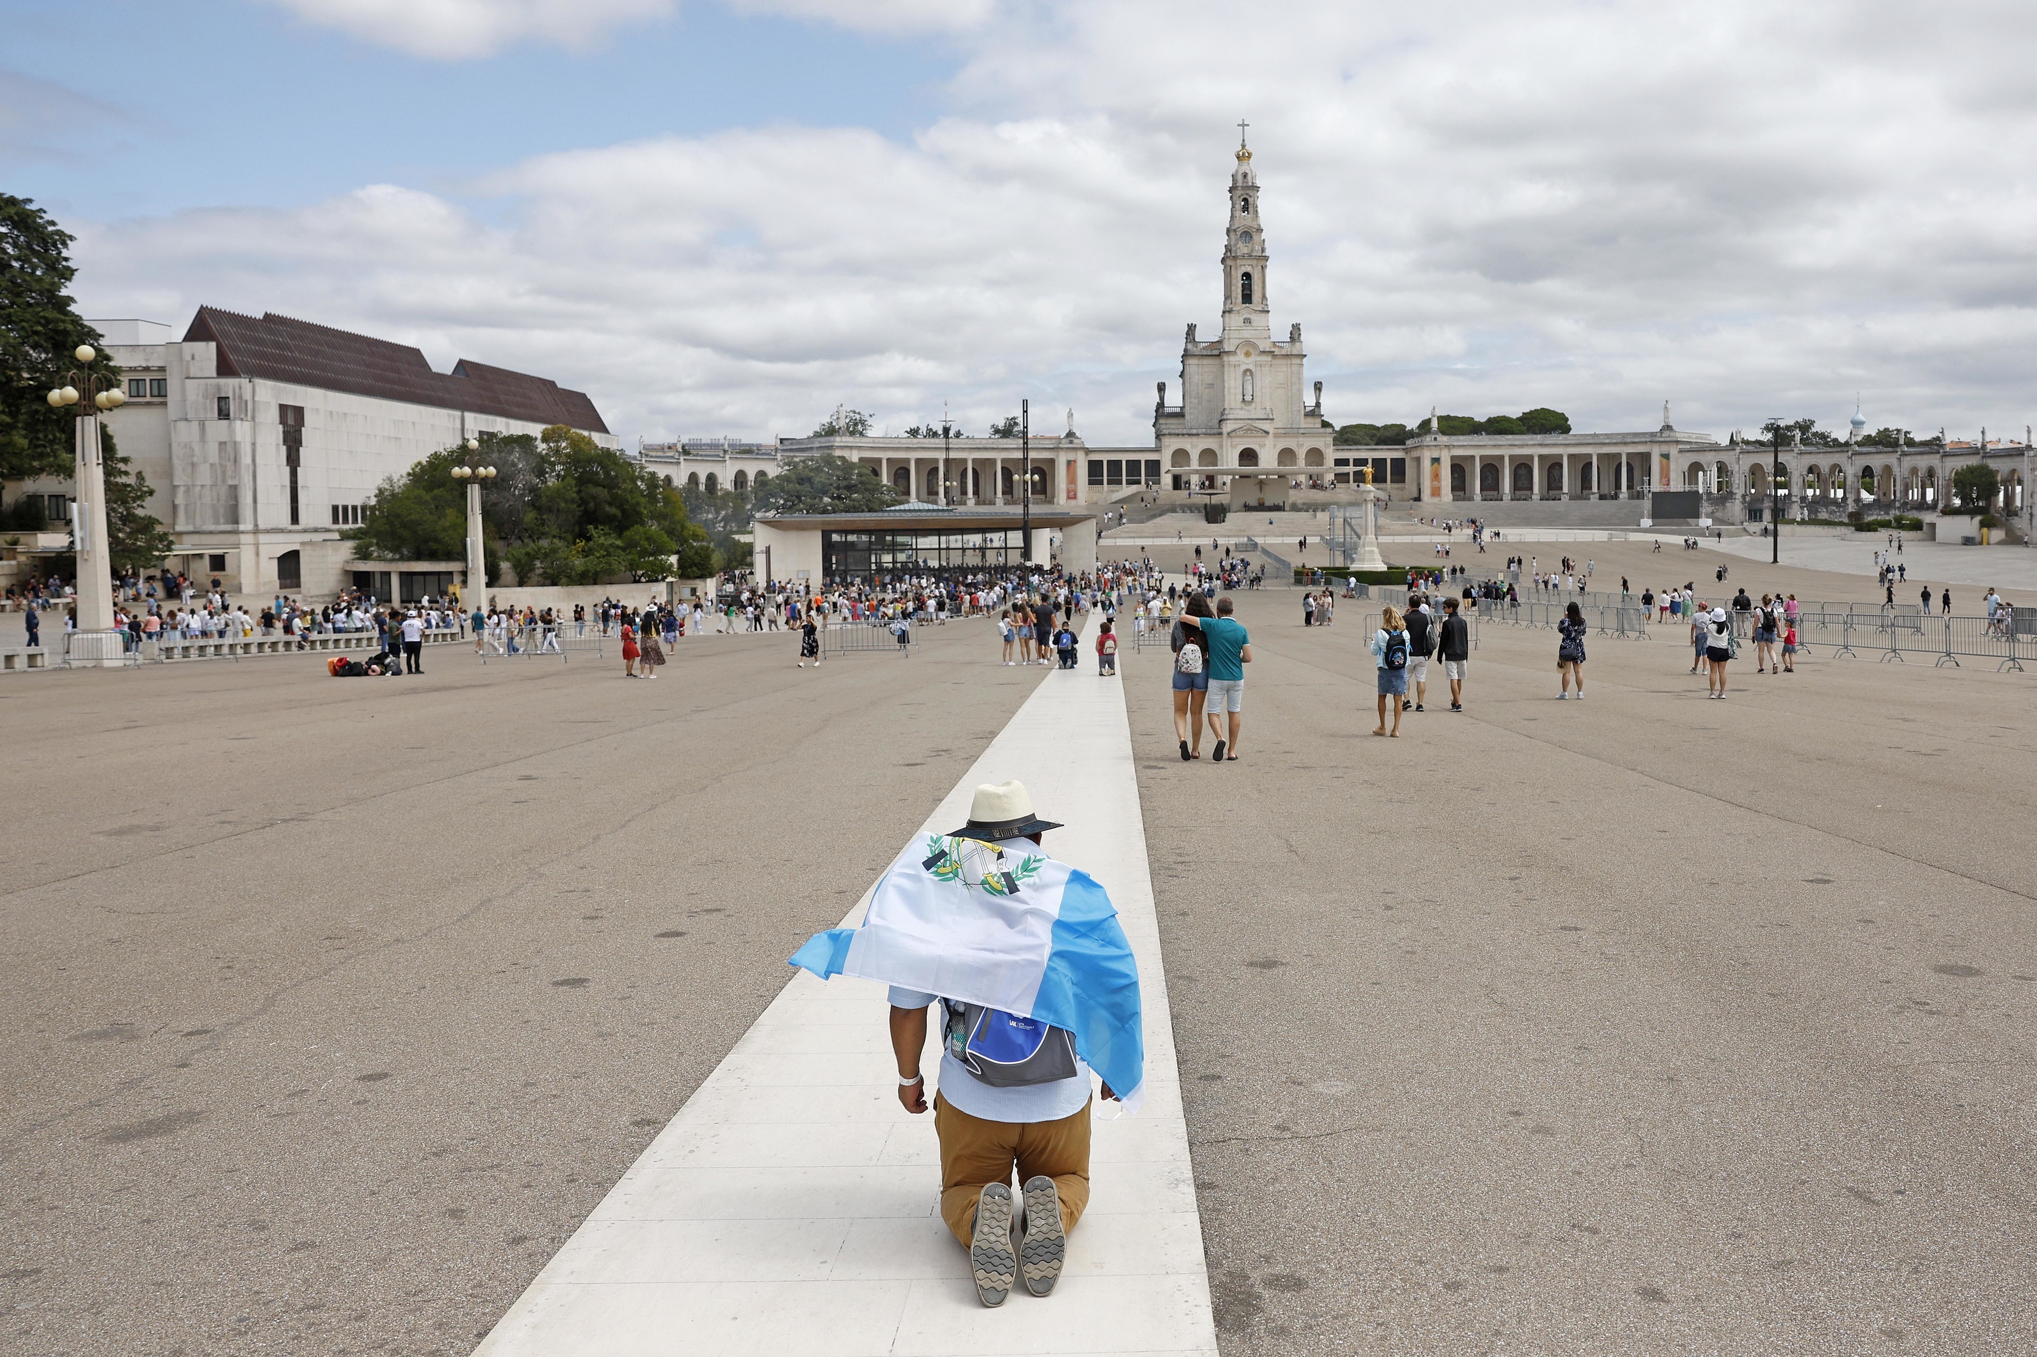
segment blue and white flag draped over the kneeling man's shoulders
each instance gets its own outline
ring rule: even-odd
[[[884,872],[864,923],[815,933],[792,966],[880,980],[1061,1027],[1137,1110],[1139,964],[1110,897],[1037,844],[925,835]]]

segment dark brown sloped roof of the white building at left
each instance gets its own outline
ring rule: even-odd
[[[564,424],[589,434],[609,432],[585,391],[568,391],[546,377],[466,359],[460,359],[450,373],[434,373],[424,350],[411,344],[316,326],[275,312],[257,320],[200,306],[183,340],[218,344],[220,377],[263,377],[387,401],[473,410],[530,424]]]

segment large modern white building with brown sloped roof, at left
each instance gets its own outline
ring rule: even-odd
[[[326,597],[352,585],[340,532],[361,524],[385,479],[471,434],[566,424],[619,446],[581,391],[466,359],[438,373],[420,348],[306,320],[202,306],[181,340],[147,320],[92,324],[126,381],[128,401],[106,428],[177,538],[169,566],[232,593]],[[6,487],[8,499],[20,493],[61,509],[71,485]]]

